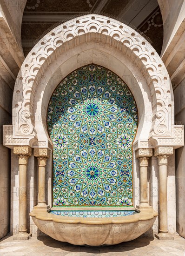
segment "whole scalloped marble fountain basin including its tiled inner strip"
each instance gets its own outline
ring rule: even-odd
[[[112,245],[131,241],[150,229],[158,214],[153,209],[64,208],[33,209],[36,226],[48,236],[75,245]]]

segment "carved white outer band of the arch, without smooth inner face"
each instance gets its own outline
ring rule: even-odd
[[[159,55],[131,27],[97,14],[88,14],[59,25],[46,34],[27,55],[13,93],[13,137],[26,136],[30,141],[36,140],[33,105],[41,77],[59,56],[65,55],[68,50],[75,52],[76,47],[92,41],[94,48],[101,44],[103,48],[119,50],[120,59],[125,55],[139,68],[152,97],[154,114],[149,137],[155,138],[153,141],[158,141],[161,136],[172,137],[172,85]]]

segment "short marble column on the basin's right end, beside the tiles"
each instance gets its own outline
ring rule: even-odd
[[[136,158],[139,159],[139,183],[140,183],[140,202],[138,209],[152,208],[148,201],[148,158],[152,156],[152,148],[139,148],[136,150]]]

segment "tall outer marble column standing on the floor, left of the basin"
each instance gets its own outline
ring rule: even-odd
[[[27,240],[31,234],[27,233],[27,186],[26,173],[28,158],[32,155],[29,146],[15,146],[13,153],[19,156],[19,234],[14,239]]]

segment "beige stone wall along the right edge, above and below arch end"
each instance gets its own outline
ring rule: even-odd
[[[164,24],[161,58],[172,81],[175,123],[185,125],[185,1],[158,0]],[[177,232],[185,237],[185,147],[176,149]]]

